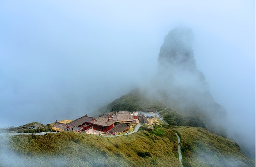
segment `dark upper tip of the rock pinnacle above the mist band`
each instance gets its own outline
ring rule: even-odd
[[[166,68],[195,70],[195,59],[192,49],[193,31],[191,28],[178,26],[164,37],[164,44],[158,56],[159,72]]]

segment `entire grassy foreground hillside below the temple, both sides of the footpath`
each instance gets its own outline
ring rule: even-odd
[[[203,128],[156,126],[153,131],[143,129],[142,126],[138,133],[118,137],[74,132],[10,136],[8,146],[0,140],[1,148],[5,148],[0,150],[0,155],[6,154],[12,160],[0,162],[0,166],[12,162],[23,166],[22,160],[25,160],[24,166],[179,167],[175,132],[181,138],[185,167],[255,166],[236,143]],[[8,155],[10,152],[12,155]]]

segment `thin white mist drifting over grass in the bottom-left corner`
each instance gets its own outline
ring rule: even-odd
[[[122,165],[128,165],[127,162],[121,160],[118,157],[115,159],[103,155],[99,150],[92,152],[91,149],[87,149],[88,155],[81,157],[70,156],[69,153],[61,155],[49,155],[46,153],[30,154],[30,153],[20,153],[17,150],[13,151],[13,145],[11,141],[15,140],[8,135],[0,135],[0,166],[1,167],[69,167],[69,166],[83,166],[83,167],[92,167],[92,166],[106,166],[113,161],[121,163]],[[71,150],[69,150],[72,152]],[[88,156],[88,157],[87,157]],[[117,160],[118,159],[118,160]],[[115,164],[115,163],[114,163]]]

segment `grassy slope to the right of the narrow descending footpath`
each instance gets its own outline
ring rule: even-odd
[[[240,152],[237,143],[203,128],[180,127],[183,165],[186,167],[255,167],[255,162]]]

